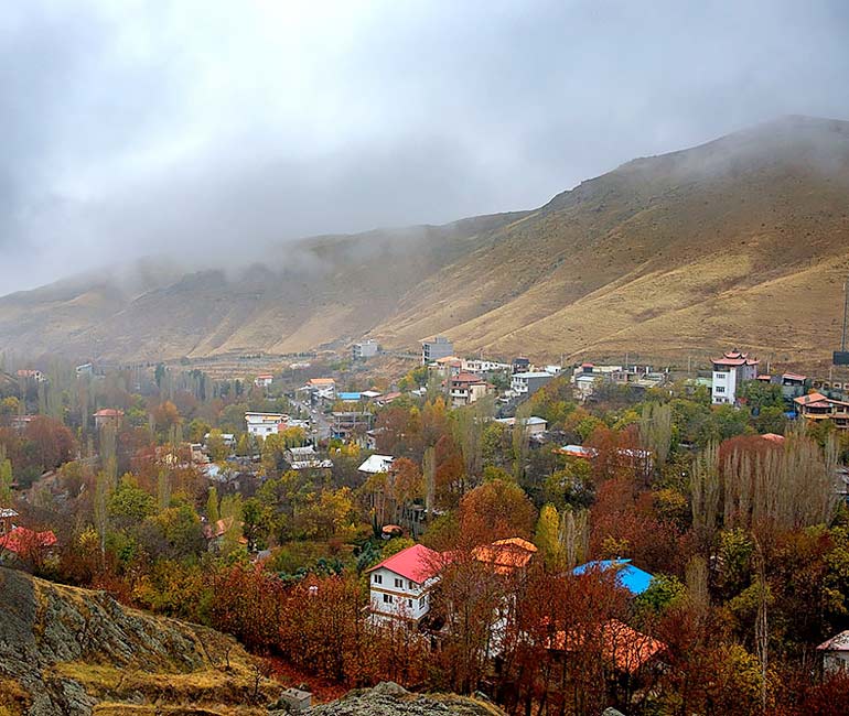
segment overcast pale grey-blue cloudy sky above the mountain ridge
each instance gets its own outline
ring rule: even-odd
[[[0,295],[533,208],[849,119],[847,37],[845,0],[3,0]]]

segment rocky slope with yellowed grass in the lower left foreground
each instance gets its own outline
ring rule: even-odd
[[[259,714],[250,704],[281,690],[257,687],[248,654],[212,629],[4,567],[0,595],[3,716]]]

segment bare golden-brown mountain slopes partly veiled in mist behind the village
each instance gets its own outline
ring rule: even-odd
[[[0,299],[0,349],[158,360],[444,333],[539,359],[825,359],[849,273],[849,122],[787,117],[634,160],[533,211],[187,263]]]

